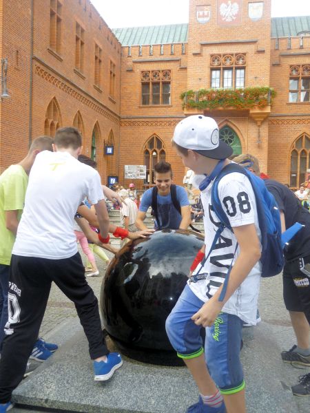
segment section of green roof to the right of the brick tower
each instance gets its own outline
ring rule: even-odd
[[[271,37],[297,36],[300,32],[310,33],[310,16],[273,17],[271,19]]]

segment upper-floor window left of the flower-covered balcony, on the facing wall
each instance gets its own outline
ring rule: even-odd
[[[171,105],[171,70],[141,73],[142,105]]]

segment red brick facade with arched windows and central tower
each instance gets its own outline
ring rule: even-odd
[[[121,46],[89,0],[14,3],[12,10],[12,2],[0,0],[0,52],[8,58],[11,96],[0,106],[1,171],[25,156],[34,137],[76,125],[83,134],[83,152],[94,155],[92,146],[96,147],[103,182],[108,175],[117,175],[127,186],[124,165],[144,165],[145,145],[155,135],[180,183],[184,168],[170,140],[181,118],[199,112],[183,109],[180,94],[211,86],[212,56],[230,54],[235,59],[242,54],[245,87],[276,90],[271,112],[267,107],[262,118],[249,109],[200,113],[214,117],[220,128],[230,127],[242,152],[258,156],[262,171],[293,183],[291,150],[299,136],[309,136],[310,142],[310,103],[289,103],[289,77],[292,65],[302,68],[309,63],[310,36],[304,36],[302,43],[300,36],[271,39],[270,0],[263,1],[262,17],[254,20],[249,17],[253,1],[236,0],[239,8],[231,21],[229,15],[225,21],[220,14],[226,0],[209,0],[208,21],[203,24],[197,12],[205,2],[189,0],[186,43],[130,49]],[[171,76],[170,104],[143,105],[143,72],[165,71]],[[114,143],[114,156],[103,155],[104,142]],[[296,151],[297,168],[304,169],[305,154],[310,167],[309,149]],[[296,184],[302,179],[297,174]],[[142,181],[137,183],[142,187]]]

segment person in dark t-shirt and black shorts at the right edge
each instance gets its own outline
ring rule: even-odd
[[[260,165],[255,156],[247,153],[234,161],[260,176]],[[282,351],[281,357],[285,363],[310,367],[310,215],[285,185],[273,179],[265,180],[265,184],[280,209],[282,232],[295,222],[304,225],[284,250],[283,298],[296,344],[290,350]],[[301,376],[299,383],[291,389],[296,396],[310,396],[310,373]]]

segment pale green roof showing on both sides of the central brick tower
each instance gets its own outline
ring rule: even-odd
[[[123,46],[186,43],[188,24],[120,28],[112,31]],[[271,37],[297,36],[300,32],[310,32],[310,16],[271,19]]]

